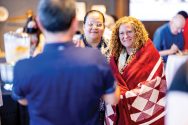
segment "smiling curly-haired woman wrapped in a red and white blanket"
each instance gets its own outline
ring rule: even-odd
[[[164,125],[164,65],[138,19],[128,16],[116,22],[110,42],[110,65],[121,96],[116,106],[107,105],[106,123]]]

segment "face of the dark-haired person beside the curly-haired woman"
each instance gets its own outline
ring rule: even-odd
[[[92,12],[87,16],[83,26],[86,39],[96,41],[101,39],[104,32],[104,22],[101,14]]]

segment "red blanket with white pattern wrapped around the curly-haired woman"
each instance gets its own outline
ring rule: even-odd
[[[110,65],[121,88],[121,100],[116,108],[107,105],[106,124],[163,125],[166,79],[163,61],[151,40],[136,52],[123,74],[114,57]]]

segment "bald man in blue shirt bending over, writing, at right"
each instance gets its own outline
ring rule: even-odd
[[[153,42],[166,63],[168,55],[175,54],[183,50],[184,38],[182,29],[185,19],[177,14],[170,22],[160,26],[154,33]]]

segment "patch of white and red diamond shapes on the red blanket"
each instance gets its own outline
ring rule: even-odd
[[[127,99],[135,98],[131,104],[131,107],[137,109],[138,111],[136,113],[130,114],[133,121],[137,122],[143,120],[144,117],[149,118],[164,106],[164,98],[158,100],[159,90],[155,89],[155,87],[159,86],[160,82],[161,78],[158,77],[155,79],[155,82],[152,82],[154,85],[147,86],[141,84],[140,89],[135,89],[136,91],[132,90],[126,93]]]

